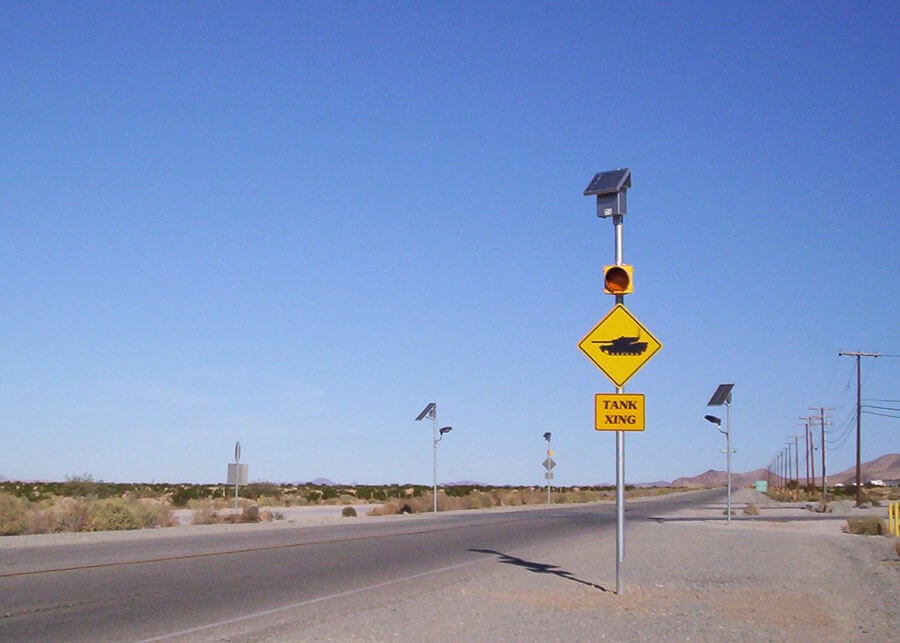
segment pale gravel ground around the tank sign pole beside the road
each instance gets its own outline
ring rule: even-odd
[[[737,492],[735,507],[753,493]],[[897,640],[894,538],[842,533],[845,518],[800,505],[772,503],[730,527],[724,506],[659,518],[626,514],[621,595],[615,535],[582,537],[486,554],[494,562],[477,574],[351,601],[327,620],[306,614],[302,630],[272,624],[227,640]]]

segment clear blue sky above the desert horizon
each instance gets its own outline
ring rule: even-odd
[[[545,431],[558,483],[613,481],[576,345],[616,167],[663,343],[628,481],[724,469],[721,382],[735,470],[810,406],[846,468],[838,351],[900,354],[898,33],[895,2],[4,2],[0,474],[215,482],[240,440],[252,480],[430,483],[435,401],[441,481],[543,483]],[[863,373],[900,399],[900,358]]]

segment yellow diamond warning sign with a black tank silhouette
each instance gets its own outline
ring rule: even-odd
[[[662,348],[662,344],[625,306],[616,304],[578,342],[578,348],[613,384],[624,386]]]

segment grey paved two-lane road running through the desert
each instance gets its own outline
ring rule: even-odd
[[[630,519],[721,491],[629,504]],[[323,527],[0,550],[0,640],[147,640],[206,635],[348,597],[388,596],[423,578],[615,528],[611,504],[360,518]],[[205,634],[204,634],[205,633]]]

